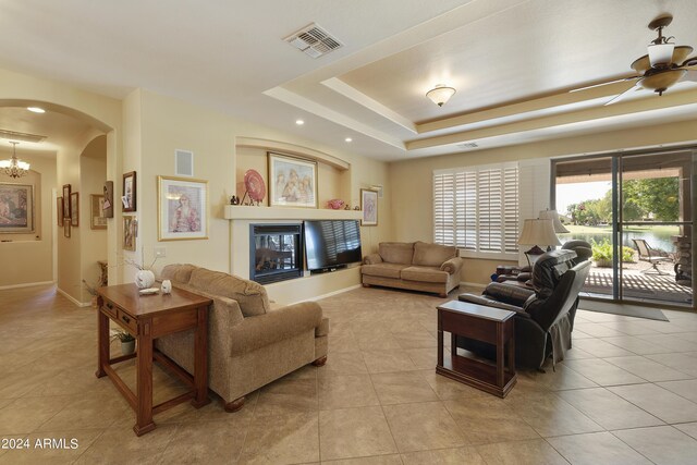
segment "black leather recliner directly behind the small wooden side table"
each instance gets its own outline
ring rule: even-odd
[[[550,355],[557,363],[571,348],[578,293],[590,270],[590,261],[578,258],[571,249],[548,252],[533,267],[533,290],[493,282],[482,295],[461,294],[460,299],[515,311],[515,364],[541,368]],[[457,336],[457,346],[496,357],[491,344]]]

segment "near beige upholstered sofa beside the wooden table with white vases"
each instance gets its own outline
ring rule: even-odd
[[[228,412],[254,390],[309,363],[327,360],[329,320],[315,302],[271,309],[262,285],[194,265],[168,265],[162,279],[212,298],[208,313],[208,387]],[[194,333],[157,340],[157,347],[193,372]]]

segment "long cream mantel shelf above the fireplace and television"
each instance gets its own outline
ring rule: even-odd
[[[225,220],[360,220],[359,210],[225,205]]]

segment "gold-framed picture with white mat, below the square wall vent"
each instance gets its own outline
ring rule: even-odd
[[[208,238],[208,182],[157,178],[158,241]]]

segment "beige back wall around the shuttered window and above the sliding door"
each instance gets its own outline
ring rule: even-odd
[[[688,144],[697,140],[697,120],[653,125],[637,130],[613,131],[578,137],[567,137],[534,144],[501,147],[441,157],[390,163],[389,180],[392,187],[391,220],[396,241],[432,241],[432,171],[504,161],[553,158],[594,154],[619,149],[644,148],[669,144]],[[522,196],[527,195],[525,192]],[[496,271],[497,264],[505,260],[465,259],[462,281],[486,283]]]

